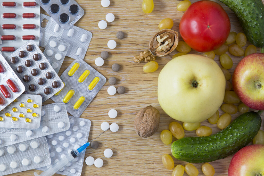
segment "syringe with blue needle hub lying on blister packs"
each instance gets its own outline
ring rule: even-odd
[[[109,130],[109,129],[107,129],[107,130]],[[107,130],[105,130],[104,132],[106,132]],[[102,132],[101,134],[103,134],[104,132]],[[99,137],[100,135],[98,135],[97,137]],[[93,139],[93,140],[95,140],[95,139]],[[34,175],[35,176],[51,176],[51,175],[54,175],[58,170],[60,170],[61,168],[63,168],[66,164],[68,164],[74,158],[77,158],[79,156],[79,154],[83,150],[85,150],[91,144],[91,142],[93,140],[91,140],[90,142],[87,142],[86,144],[82,145],[77,150],[72,150],[70,153],[68,153],[63,158],[61,158],[59,161],[57,161],[56,163],[54,163],[51,167],[49,167],[47,170],[45,170],[40,175],[38,175],[36,172],[34,172]]]

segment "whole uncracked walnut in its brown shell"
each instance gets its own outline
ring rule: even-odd
[[[152,136],[159,128],[159,111],[150,106],[141,109],[136,115],[134,129],[142,138]]]

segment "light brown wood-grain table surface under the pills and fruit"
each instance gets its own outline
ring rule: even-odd
[[[104,161],[103,167],[96,168],[94,165],[87,166],[84,163],[82,175],[171,175],[172,170],[164,168],[161,160],[163,154],[171,155],[171,145],[162,143],[160,133],[162,130],[168,129],[169,123],[174,120],[161,109],[158,103],[157,83],[161,69],[178,52],[175,50],[162,58],[157,58],[159,68],[153,73],[144,73],[142,67],[145,63],[134,63],[133,57],[148,49],[149,40],[159,30],[158,23],[162,19],[171,18],[174,22],[172,29],[179,31],[179,22],[184,13],[178,12],[176,9],[180,1],[154,0],[154,10],[150,14],[145,14],[142,11],[142,0],[111,0],[111,4],[107,8],[101,6],[100,0],[77,0],[77,2],[84,9],[85,14],[75,25],[91,31],[93,34],[84,60],[107,78],[106,84],[81,115],[82,118],[87,118],[92,122],[89,140],[102,132],[100,128],[102,122],[106,121],[119,125],[119,131],[115,133],[108,131],[98,138],[100,142],[98,149],[88,148],[86,150],[85,158],[87,156],[93,156],[95,159],[102,158]],[[195,1],[192,0],[191,2]],[[218,3],[228,13],[231,21],[231,31],[243,32],[234,13],[223,3]],[[44,13],[43,9],[41,9],[41,12]],[[105,30],[100,30],[98,22],[105,20],[107,13],[113,13],[115,21],[108,23]],[[124,39],[119,40],[116,38],[117,31],[125,32]],[[107,41],[111,39],[117,42],[117,47],[113,50],[107,47]],[[182,41],[182,38],[179,37],[179,40]],[[243,49],[246,49],[248,45],[249,42]],[[109,52],[110,57],[105,60],[103,66],[98,67],[95,65],[95,59],[100,57],[101,51],[104,50]],[[257,51],[260,52],[260,48],[257,48]],[[190,54],[202,53],[192,50]],[[227,54],[231,56],[234,63],[229,70],[232,74],[235,66],[243,57],[232,56],[229,52]],[[215,56],[214,60],[220,65],[219,56]],[[72,61],[72,58],[65,58],[59,75]],[[119,72],[112,71],[111,65],[114,63],[120,64]],[[126,88],[124,94],[117,93],[114,96],[107,94],[107,88],[110,86],[108,78],[112,76],[117,78],[117,83],[114,85],[116,88],[121,85]],[[45,102],[45,104],[48,103],[52,103],[52,101]],[[159,129],[153,136],[141,139],[134,131],[134,118],[140,109],[149,105],[157,108],[160,112]],[[118,116],[116,118],[111,119],[108,117],[110,109],[117,110]],[[220,115],[223,114],[220,108],[219,113]],[[232,120],[239,115],[239,112],[232,115]],[[264,120],[263,115],[262,119]],[[182,124],[182,122],[180,123]],[[211,125],[207,120],[201,122],[201,125],[211,127],[213,134],[220,131],[216,125]],[[263,123],[261,130],[264,130]],[[196,133],[195,131],[185,131],[185,136],[196,136]],[[175,140],[173,137],[173,141]],[[113,150],[111,158],[106,158],[103,155],[103,151],[107,148]],[[210,162],[215,168],[215,175],[227,175],[232,156]],[[183,166],[187,164],[187,162],[175,158],[174,162],[175,166],[177,164]],[[201,170],[202,164],[194,165],[199,170],[199,175],[204,175]],[[41,171],[29,170],[11,175],[33,175],[33,172],[41,173]]]

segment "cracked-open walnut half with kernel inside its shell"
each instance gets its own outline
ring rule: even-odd
[[[149,50],[155,56],[165,56],[175,50],[177,45],[178,32],[162,29],[149,41]]]

